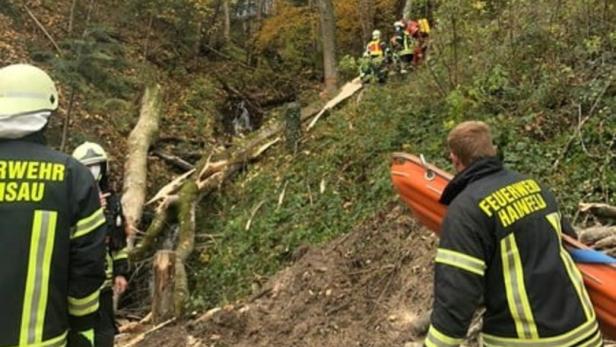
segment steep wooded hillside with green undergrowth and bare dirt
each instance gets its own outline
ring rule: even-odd
[[[306,106],[318,94],[313,2],[284,1],[257,25],[237,21],[226,44],[220,21],[202,24],[220,14],[221,2],[77,1],[69,32],[72,3],[2,2],[0,65],[49,69],[62,98],[50,143],[59,147],[74,95],[65,150],[83,140],[104,144],[118,186],[146,83],[163,85],[165,105],[148,160],[150,195],[182,172],[154,151],[195,163],[254,136],[235,131],[244,111],[258,128],[282,121],[283,103]],[[401,3],[375,2],[384,33]],[[428,60],[367,85],[304,133],[298,151],[274,146],[201,201],[187,311],[199,317],[228,306],[180,320],[145,345],[183,346],[189,337],[217,346],[412,339],[410,318],[430,303],[435,240],[396,202],[390,155],[423,153],[451,171],[444,139],[463,120],[489,123],[505,164],[551,186],[574,223],[595,222],[578,211],[580,201],[616,204],[616,4],[415,3],[434,17]],[[360,13],[346,0],[336,4],[339,57],[360,55]],[[344,62],[341,73],[354,75],[354,60]],[[154,213],[146,211],[143,229]],[[160,247],[173,247],[177,224],[165,225]],[[150,258],[135,265],[120,310],[131,319],[150,310]]]

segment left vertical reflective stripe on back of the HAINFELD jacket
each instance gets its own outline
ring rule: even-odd
[[[501,258],[507,302],[518,337],[525,339],[539,338],[537,325],[526,294],[524,270],[520,251],[515,241],[515,234],[511,233],[501,240]]]

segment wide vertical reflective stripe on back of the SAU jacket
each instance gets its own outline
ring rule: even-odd
[[[56,235],[55,211],[34,211],[28,257],[28,275],[23,297],[19,345],[43,342],[43,325],[49,294],[49,272]],[[65,336],[66,337],[66,336]],[[46,345],[45,345],[46,346]]]

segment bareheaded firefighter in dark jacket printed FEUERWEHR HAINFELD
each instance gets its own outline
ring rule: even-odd
[[[574,231],[552,193],[503,167],[483,122],[461,123],[447,142],[458,173],[441,197],[449,208],[424,344],[458,346],[483,303],[485,346],[601,346],[581,274],[561,243]]]

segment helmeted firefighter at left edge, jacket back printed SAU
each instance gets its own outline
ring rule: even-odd
[[[45,145],[57,108],[44,71],[0,69],[0,347],[93,345],[105,216],[88,170]]]

